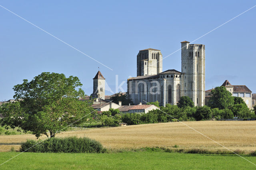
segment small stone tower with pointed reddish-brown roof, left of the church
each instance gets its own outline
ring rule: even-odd
[[[100,70],[93,78],[93,93],[91,96],[93,98],[101,98],[105,100],[105,78],[101,74]]]

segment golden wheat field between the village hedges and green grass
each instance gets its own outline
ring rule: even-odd
[[[86,136],[100,141],[104,147],[111,149],[172,147],[174,145],[184,149],[225,149],[219,145],[221,144],[230,150],[256,150],[256,121],[200,121],[184,122],[184,124],[169,122],[114,128],[90,128],[62,132],[56,136]],[[45,136],[41,137],[41,139],[44,138]],[[30,134],[0,136],[0,152],[9,151],[12,147],[18,150],[20,142],[27,139],[36,138]]]

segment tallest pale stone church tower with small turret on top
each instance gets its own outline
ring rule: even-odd
[[[195,106],[205,103],[205,49],[203,44],[181,42],[181,96],[189,96]]]

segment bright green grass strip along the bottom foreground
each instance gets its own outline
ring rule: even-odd
[[[18,152],[2,152],[0,164]],[[245,156],[256,163],[256,157]],[[121,152],[111,154],[22,153],[1,170],[241,170],[256,166],[232,155]]]

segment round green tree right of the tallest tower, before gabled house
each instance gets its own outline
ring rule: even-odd
[[[224,86],[212,89],[209,95],[208,106],[211,108],[225,109],[230,108],[234,104],[232,94]]]

